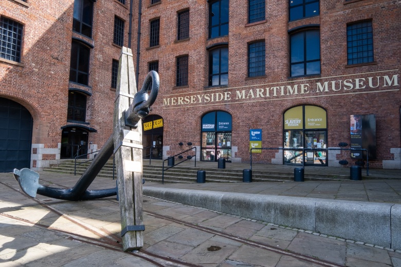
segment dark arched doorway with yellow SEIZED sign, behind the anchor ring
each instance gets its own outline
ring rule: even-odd
[[[142,120],[142,156],[149,159],[161,159],[163,156],[163,118],[149,115]],[[153,147],[151,147],[153,146]]]

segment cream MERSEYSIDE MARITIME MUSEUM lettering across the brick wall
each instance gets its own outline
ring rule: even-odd
[[[223,88],[210,90],[207,93],[194,94],[192,96],[174,97],[172,95],[171,97],[163,98],[163,106],[185,107],[194,104],[221,104],[215,102],[222,101],[225,103],[243,103],[249,101],[274,100],[274,98],[282,99],[280,97],[302,98],[325,96],[327,94],[335,96],[336,94],[348,94],[353,92],[394,91],[399,90],[398,76],[399,74],[390,74],[367,78],[338,79],[321,82],[312,82],[311,80],[311,82],[307,81],[307,83],[301,83],[306,81],[296,81],[299,84],[263,88],[261,88],[261,86],[255,86],[258,88],[252,88],[249,86],[249,89],[239,89],[238,87],[235,89]],[[397,86],[397,88],[394,88],[394,86]],[[216,92],[221,90],[225,91]]]

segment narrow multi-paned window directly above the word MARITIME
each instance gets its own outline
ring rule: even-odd
[[[248,77],[265,75],[265,41],[248,45]]]

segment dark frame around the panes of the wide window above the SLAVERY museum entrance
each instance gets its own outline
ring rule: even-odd
[[[314,60],[306,60],[307,59],[307,38],[306,38],[306,33],[307,32],[311,32],[311,31],[318,31],[319,32],[319,59],[314,59]],[[293,51],[292,51],[292,38],[297,35],[297,34],[303,34],[303,61],[297,61],[297,62],[293,62],[292,58],[293,58]],[[292,32],[290,33],[289,36],[289,77],[290,78],[294,78],[294,77],[303,77],[303,76],[311,76],[311,75],[320,75],[321,74],[321,49],[320,49],[320,29],[319,28],[306,28],[300,31],[296,31],[296,32]],[[307,64],[308,63],[313,63],[313,62],[319,62],[319,73],[307,73]],[[303,64],[303,72],[304,74],[301,75],[293,75],[293,65],[297,65],[297,64]]]

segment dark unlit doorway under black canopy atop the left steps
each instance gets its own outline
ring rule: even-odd
[[[61,159],[74,159],[88,152],[88,131],[78,127],[64,127],[61,133]],[[84,156],[86,158],[86,156]]]

